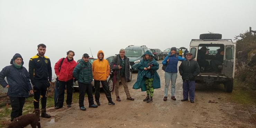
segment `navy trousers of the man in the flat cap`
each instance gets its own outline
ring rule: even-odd
[[[183,99],[194,100],[195,98],[195,81],[183,80]]]

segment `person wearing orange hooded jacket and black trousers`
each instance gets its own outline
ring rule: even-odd
[[[94,87],[95,87],[95,101],[98,106],[100,106],[100,82],[102,84],[102,88],[105,92],[105,95],[108,99],[109,105],[115,105],[112,101],[111,93],[109,91],[109,86],[107,82],[107,78],[109,77],[110,68],[107,60],[104,59],[104,52],[99,50],[97,53],[97,60],[92,62],[92,73],[94,79]]]

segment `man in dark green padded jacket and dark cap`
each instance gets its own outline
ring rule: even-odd
[[[83,111],[86,110],[84,107],[84,95],[87,92],[89,108],[97,108],[94,105],[92,96],[92,65],[89,62],[89,55],[83,54],[82,59],[77,63],[73,70],[73,77],[77,79],[79,86],[79,108]]]

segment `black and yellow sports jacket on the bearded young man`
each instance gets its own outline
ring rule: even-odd
[[[48,57],[40,57],[38,54],[29,60],[28,72],[32,85],[37,82],[52,81],[51,61]]]

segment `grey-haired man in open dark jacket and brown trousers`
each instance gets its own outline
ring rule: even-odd
[[[128,85],[127,85],[127,79],[130,76],[130,62],[129,58],[125,56],[125,49],[120,49],[119,54],[113,58],[112,62],[110,63],[110,68],[114,71],[116,71],[116,83],[115,83],[115,94],[117,97],[117,101],[121,101],[119,97],[119,81],[121,80],[122,85],[124,86],[125,93],[127,96],[127,100],[134,100],[134,98],[131,98]]]

